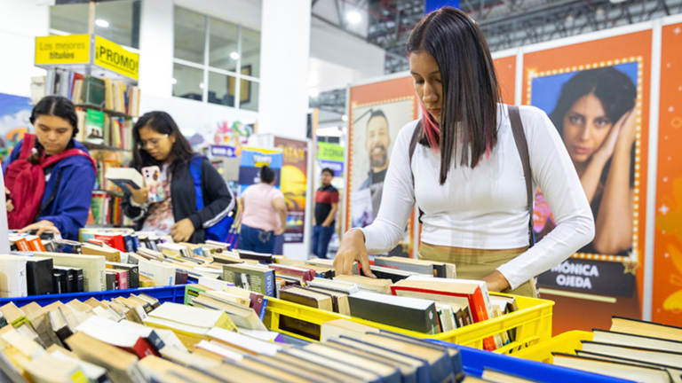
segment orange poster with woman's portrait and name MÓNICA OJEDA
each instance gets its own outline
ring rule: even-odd
[[[555,332],[641,318],[651,39],[643,31],[524,55],[523,104],[550,116],[595,216],[594,240],[538,276],[557,302]],[[556,225],[542,191],[534,220],[538,241]]]

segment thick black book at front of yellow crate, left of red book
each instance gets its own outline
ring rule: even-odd
[[[438,333],[438,312],[433,302],[425,309],[415,309],[379,300],[361,299],[354,295],[348,295],[351,317],[359,317],[414,332]]]

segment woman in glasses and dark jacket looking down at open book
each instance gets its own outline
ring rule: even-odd
[[[205,228],[218,223],[234,207],[234,196],[218,170],[201,157],[204,207],[196,208],[194,178],[189,162],[195,155],[171,115],[165,112],[145,113],[132,128],[134,149],[131,168],[158,166],[159,182],[165,199],[149,203],[149,188],[133,189],[123,199],[123,211],[139,231],[170,235],[175,242],[203,243]]]

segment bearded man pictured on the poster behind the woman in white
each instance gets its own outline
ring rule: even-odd
[[[391,146],[391,136],[388,129],[388,119],[380,109],[372,111],[367,121],[367,138],[365,140],[365,149],[369,154],[369,173],[359,190],[369,188],[371,191],[374,219],[377,219],[379,214],[381,195],[384,191],[389,146]]]

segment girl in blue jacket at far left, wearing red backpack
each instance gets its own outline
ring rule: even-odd
[[[48,96],[33,108],[30,118],[36,128],[35,156],[44,153],[56,155],[67,149],[85,147],[75,141],[78,133],[78,117],[75,107],[67,98]],[[20,156],[22,141],[12,150],[3,170]],[[37,157],[39,158],[39,157]],[[37,160],[37,159],[36,159]],[[92,188],[95,184],[95,170],[87,157],[75,155],[66,157],[44,169],[45,191],[34,223],[20,232],[44,231],[60,233],[62,238],[77,240],[78,230],[85,226],[90,211]],[[21,208],[12,204],[12,195],[7,196],[7,208]]]

